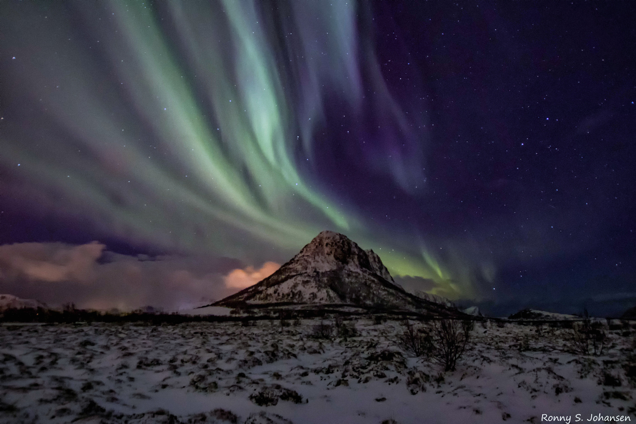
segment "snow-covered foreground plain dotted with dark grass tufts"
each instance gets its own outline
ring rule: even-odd
[[[579,357],[569,330],[478,323],[441,373],[401,352],[397,321],[351,321],[359,335],[331,341],[310,337],[317,322],[4,324],[0,423],[636,421],[634,329]]]

